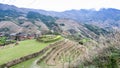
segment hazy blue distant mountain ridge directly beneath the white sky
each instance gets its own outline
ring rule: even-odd
[[[86,10],[68,10],[64,12],[45,11],[39,9],[17,8],[13,5],[0,4],[1,10],[15,10],[22,13],[29,11],[39,12],[43,15],[49,15],[59,18],[69,18],[80,23],[97,25],[103,28],[120,28],[120,10],[114,8],[102,8],[99,11],[94,9]]]

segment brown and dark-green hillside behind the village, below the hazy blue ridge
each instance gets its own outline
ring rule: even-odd
[[[6,8],[4,9],[3,7]],[[95,39],[100,34],[104,35],[104,32],[108,33],[107,30],[102,31],[102,28],[97,26],[97,31],[94,30],[94,28],[92,28],[93,30],[90,30],[84,26],[84,24],[75,20],[47,16],[33,10],[0,4],[0,32],[22,32],[31,34],[54,33],[67,36],[68,38],[73,37],[78,40],[84,37]],[[91,26],[94,27],[94,25]]]

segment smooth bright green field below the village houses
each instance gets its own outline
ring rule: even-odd
[[[14,59],[38,52],[45,48],[49,43],[40,43],[35,39],[20,41],[19,45],[10,44],[4,48],[0,48],[0,65],[12,61]]]

